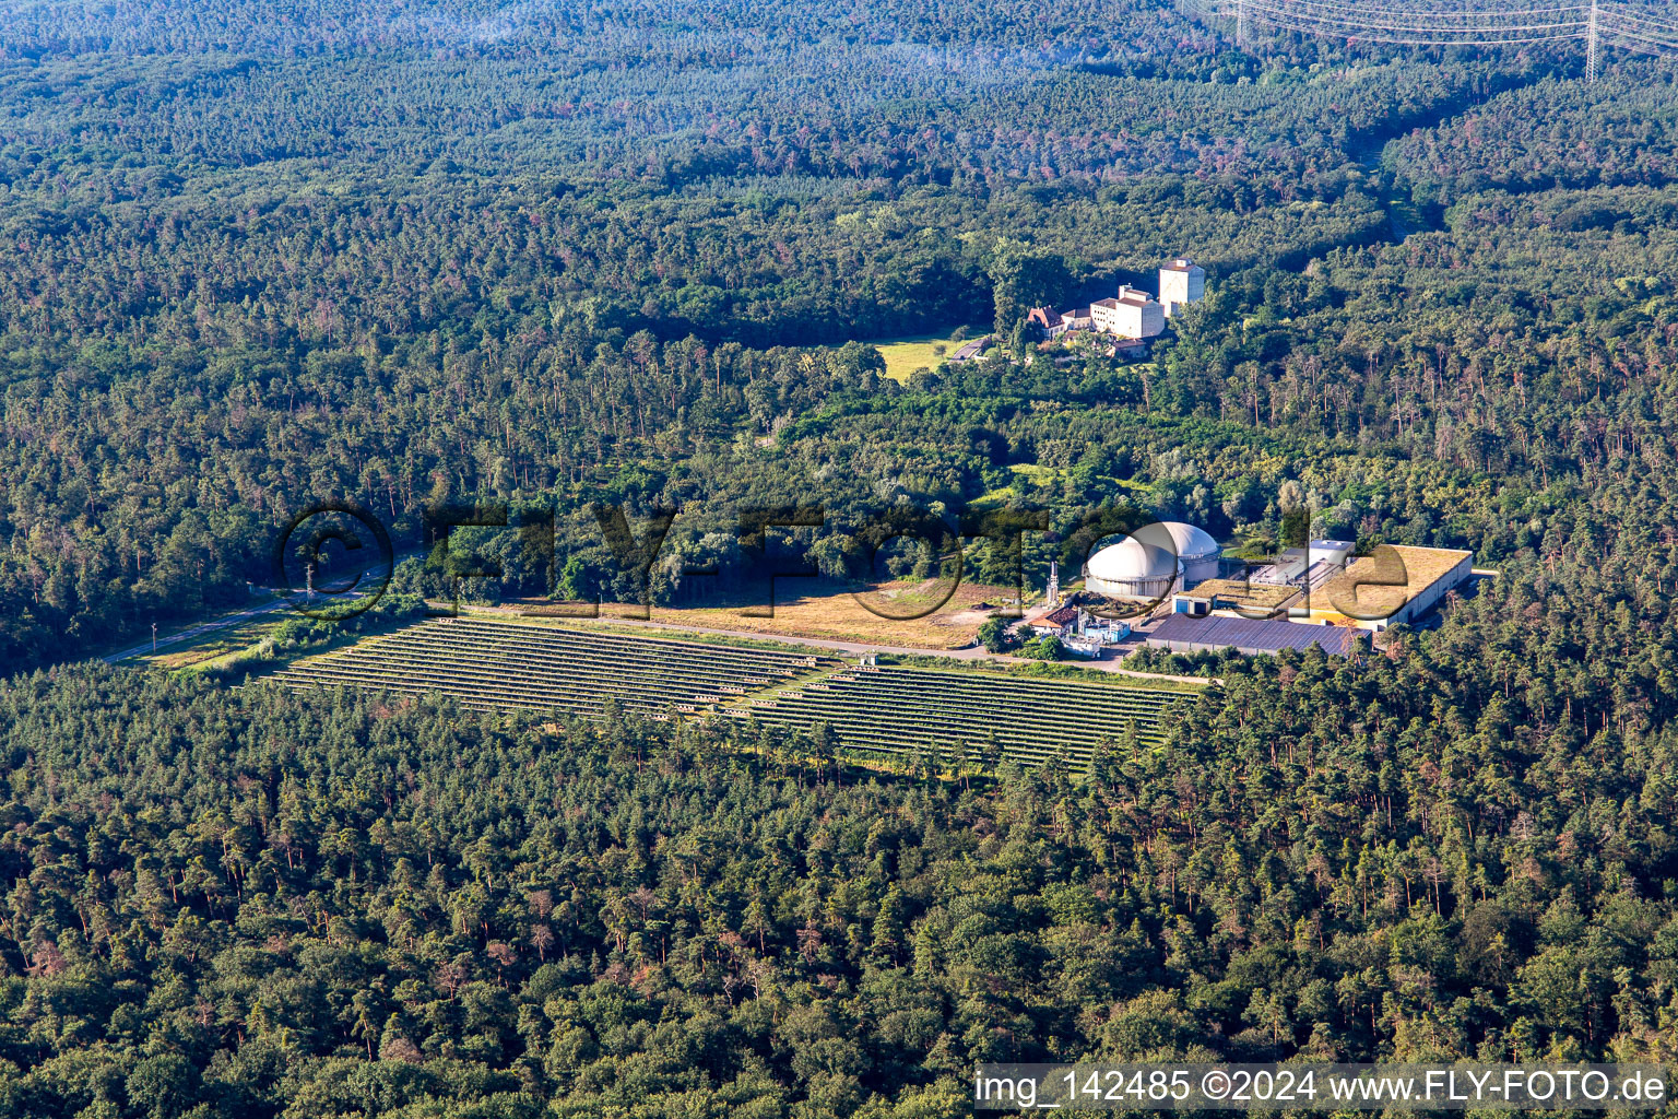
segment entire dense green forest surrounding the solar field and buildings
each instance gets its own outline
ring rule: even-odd
[[[285,12],[0,22],[0,1116],[1673,1057],[1670,62],[1159,0]],[[1146,361],[1029,346],[1181,253],[1208,297]],[[1008,347],[886,377],[960,325]],[[1045,510],[1040,575],[1123,507],[1497,575],[1368,658],[1146,661],[1222,686],[1089,772],[84,663],[250,602],[329,500],[430,594],[426,512],[505,505],[450,545],[487,599],[680,602],[809,502],[829,574],[883,510]],[[678,510],[644,586],[597,503]]]

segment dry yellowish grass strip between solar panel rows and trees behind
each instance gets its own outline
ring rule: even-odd
[[[775,607],[770,617],[763,616],[769,612],[767,596],[760,596],[752,601],[742,599],[715,606],[654,606],[651,621],[779,638],[817,638],[913,649],[960,649],[972,644],[985,619],[1014,596],[1012,591],[1002,587],[963,582],[948,602],[926,617],[901,617],[933,606],[945,591],[946,586],[936,580],[879,584],[864,596],[868,604],[879,611],[876,614],[862,606],[844,584],[787,579],[775,586]],[[881,614],[891,616],[883,617]],[[601,607],[602,619],[641,616],[641,607],[618,604]]]

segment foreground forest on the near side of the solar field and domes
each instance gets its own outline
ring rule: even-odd
[[[977,787],[819,731],[18,678],[3,1101],[958,1116],[980,1060],[1668,1060],[1671,627],[1540,606]]]

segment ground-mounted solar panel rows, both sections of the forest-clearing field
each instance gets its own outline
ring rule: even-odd
[[[1074,767],[1094,745],[1134,731],[1159,742],[1196,693],[1034,679],[985,671],[846,668],[807,653],[643,638],[584,626],[483,617],[431,619],[275,674],[294,690],[443,693],[480,711],[599,718],[607,703],[651,718],[826,725],[857,755],[916,750],[1025,765],[1057,753]]]

